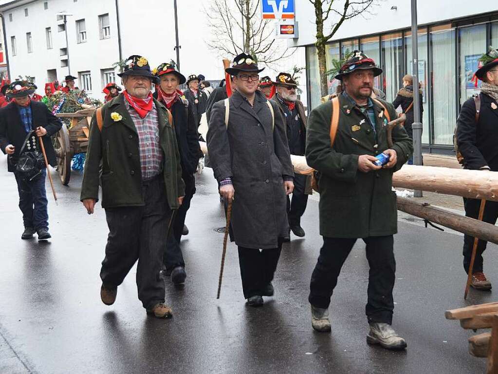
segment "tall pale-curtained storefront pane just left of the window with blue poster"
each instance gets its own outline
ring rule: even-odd
[[[451,26],[431,27],[433,144],[452,145],[456,122],[455,32]]]

